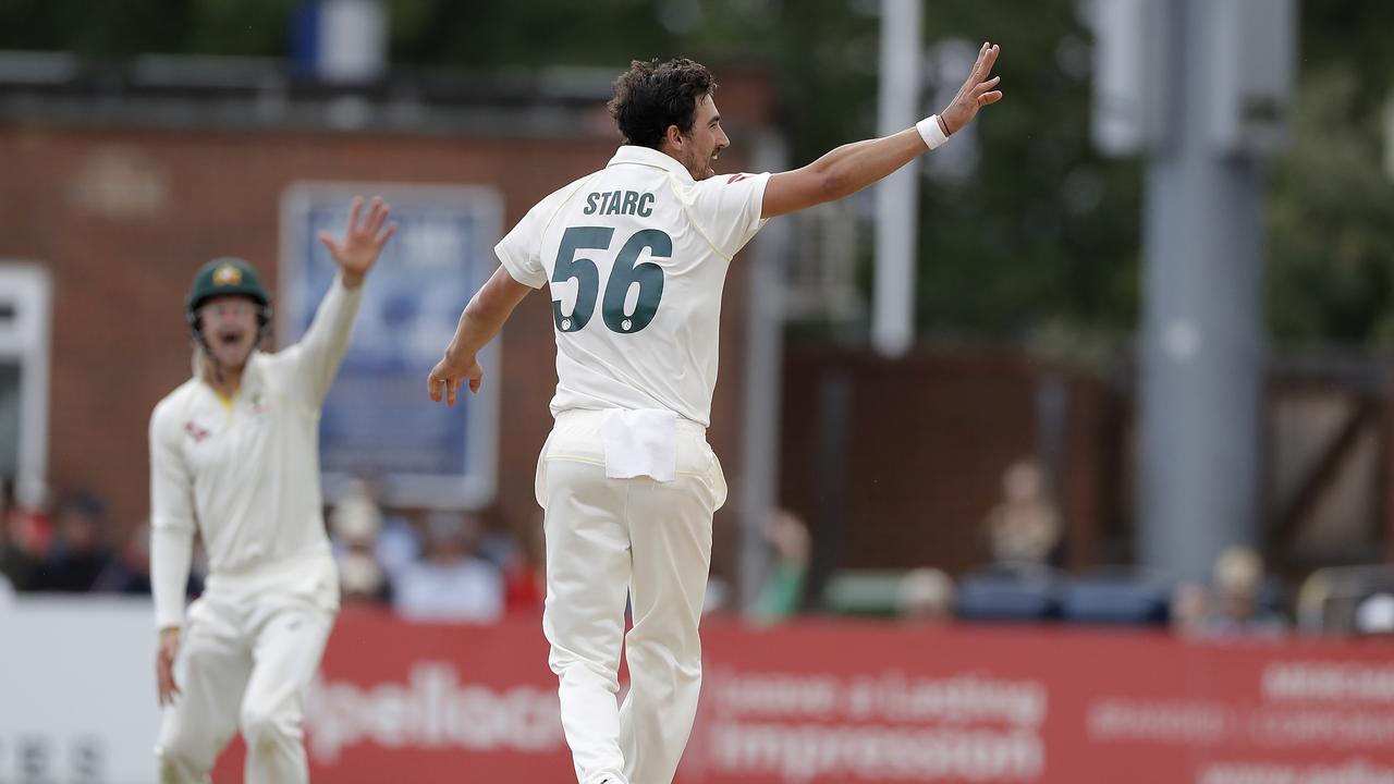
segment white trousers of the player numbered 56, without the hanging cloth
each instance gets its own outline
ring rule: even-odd
[[[538,459],[546,511],[542,631],[580,784],[669,784],[701,691],[711,518],[726,499],[705,430],[679,420],[677,477],[606,478],[604,412],[556,417]],[[625,633],[626,596],[633,628]],[[630,688],[619,693],[620,647]]]

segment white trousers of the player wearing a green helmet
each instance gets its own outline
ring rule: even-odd
[[[301,717],[337,605],[328,555],[254,579],[209,578],[188,610],[176,664],[181,693],[160,723],[160,784],[209,781],[238,728],[247,744],[244,781],[309,781]]]

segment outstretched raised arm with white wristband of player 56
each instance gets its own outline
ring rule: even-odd
[[[934,142],[942,144],[979,109],[1001,100],[1002,91],[993,89],[1001,77],[988,78],[998,52],[997,45],[983,43],[967,80],[941,114],[889,137],[845,144],[802,169],[769,177],[760,216],[776,218],[852,195],[933,149]]]

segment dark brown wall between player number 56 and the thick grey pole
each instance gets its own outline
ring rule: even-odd
[[[1002,472],[1036,453],[1036,388],[1047,368],[1005,349],[923,350],[903,360],[790,352],[785,363],[781,498],[817,529],[839,494],[822,483],[818,449],[831,423],[820,385],[850,379],[841,427],[848,437],[838,565],[962,572],[983,562],[983,519]],[[1108,437],[1107,392],[1064,375],[1068,389],[1059,505],[1065,565],[1093,561],[1104,513],[1100,466]]]

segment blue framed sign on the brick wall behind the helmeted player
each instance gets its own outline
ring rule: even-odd
[[[382,195],[397,233],[368,275],[353,343],[319,425],[328,497],[355,476],[383,481],[395,505],[481,506],[493,498],[498,384],[431,403],[425,378],[460,311],[493,272],[502,211],[489,188],[298,183],[282,197],[277,345],[300,339],[337,265],[316,234],[343,234],[353,197]],[[496,342],[481,361],[498,367]],[[498,375],[493,375],[498,378]]]

